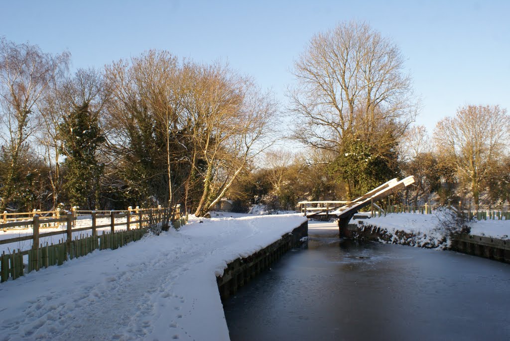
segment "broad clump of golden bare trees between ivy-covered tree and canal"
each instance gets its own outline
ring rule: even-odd
[[[126,192],[203,215],[268,144],[272,99],[226,65],[148,51],[106,74],[109,142]]]

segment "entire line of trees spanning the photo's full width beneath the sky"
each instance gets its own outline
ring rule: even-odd
[[[69,61],[0,40],[2,210],[179,203],[201,216],[224,197],[293,209],[407,175],[408,203],[510,200],[506,110],[460,107],[429,136],[412,125],[421,103],[401,51],[364,22],[311,39],[285,111],[221,62],[149,50],[71,73]],[[304,151],[268,149],[284,114],[283,138]]]

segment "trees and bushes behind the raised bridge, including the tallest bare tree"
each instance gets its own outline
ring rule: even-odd
[[[364,22],[316,34],[297,59],[288,112],[303,152],[273,149],[265,169],[241,185],[240,206],[294,209],[299,200],[350,200],[385,181],[414,175],[399,198],[510,204],[510,117],[497,105],[467,105],[437,123],[413,126],[421,107],[404,58]]]

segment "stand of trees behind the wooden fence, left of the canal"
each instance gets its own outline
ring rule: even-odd
[[[172,206],[203,215],[265,149],[273,98],[224,63],[150,50],[69,72],[0,40],[0,209]]]

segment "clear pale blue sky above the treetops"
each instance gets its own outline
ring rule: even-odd
[[[0,35],[44,51],[68,49],[73,68],[102,67],[150,48],[227,60],[285,104],[289,70],[314,33],[368,22],[406,57],[429,132],[465,104],[510,109],[510,1],[9,1]]]

